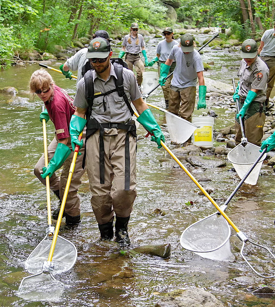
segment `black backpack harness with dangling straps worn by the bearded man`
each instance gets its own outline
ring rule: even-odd
[[[89,63],[89,62],[87,62],[87,63]],[[96,119],[90,118],[94,98],[103,96],[103,107],[104,107],[104,112],[106,112],[105,96],[110,95],[111,93],[113,93],[115,91],[118,92],[118,95],[120,97],[123,97],[127,107],[130,110],[131,115],[133,116],[133,114],[134,114],[134,110],[131,107],[131,104],[130,104],[127,96],[126,96],[126,93],[125,93],[124,87],[123,87],[123,77],[122,77],[123,66],[121,64],[117,64],[117,63],[114,63],[113,65],[114,65],[114,72],[115,72],[118,79],[116,79],[114,77],[115,88],[110,90],[110,91],[107,91],[106,93],[101,93],[99,95],[95,95],[92,70],[89,70],[84,74],[85,98],[86,98],[87,103],[89,105],[87,113],[86,113],[87,129],[86,129],[85,144],[87,142],[87,139],[91,135],[95,134],[95,132],[99,129],[99,175],[100,175],[100,184],[104,184],[104,141],[103,141],[104,128],[107,128],[107,129],[117,128],[117,129],[123,129],[123,130],[127,131],[126,137],[125,137],[125,186],[124,186],[124,189],[126,191],[129,191],[130,190],[129,133],[131,133],[134,138],[137,137],[136,125],[135,125],[134,120],[130,120],[127,124],[114,123],[114,122],[99,123]],[[85,165],[85,158],[86,158],[86,146],[85,146],[85,152],[84,152],[83,164],[82,164],[83,168],[84,168],[84,165]]]

